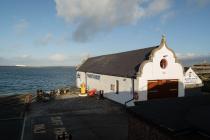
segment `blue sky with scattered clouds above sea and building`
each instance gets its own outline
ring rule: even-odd
[[[159,45],[210,62],[210,0],[0,0],[0,65],[75,66]]]

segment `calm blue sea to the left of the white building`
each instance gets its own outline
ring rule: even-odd
[[[37,89],[75,86],[75,73],[74,67],[0,66],[0,94],[35,93]]]

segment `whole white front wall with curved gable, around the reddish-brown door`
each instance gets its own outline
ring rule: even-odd
[[[175,62],[175,56],[165,44],[160,46],[160,49],[154,51],[151,61],[146,61],[142,71],[140,72],[139,81],[139,101],[147,100],[147,84],[148,80],[161,80],[161,79],[178,79],[178,96],[184,96],[183,84],[183,67]],[[160,61],[166,59],[168,65],[165,69],[160,67]]]

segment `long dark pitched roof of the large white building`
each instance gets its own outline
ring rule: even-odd
[[[152,50],[157,47],[92,57],[85,61],[77,71],[129,78],[135,77],[141,63],[147,60]]]

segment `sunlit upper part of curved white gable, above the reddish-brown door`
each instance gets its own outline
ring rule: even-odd
[[[146,79],[180,79],[183,78],[183,67],[176,62],[175,56],[165,45],[154,50],[151,60],[143,64],[141,77]],[[160,61],[165,59],[167,66],[165,69],[160,67]]]

